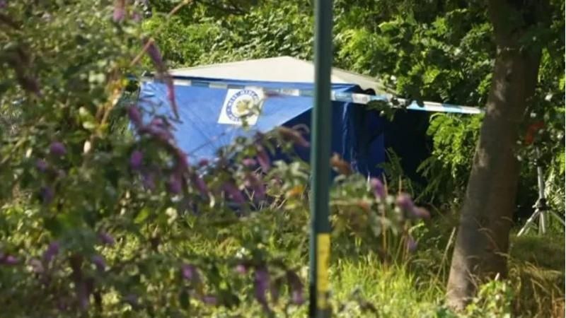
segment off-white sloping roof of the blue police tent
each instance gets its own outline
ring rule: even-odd
[[[170,72],[173,76],[227,78],[243,81],[314,82],[314,64],[294,57],[250,59],[248,61],[211,64],[187,69],[173,69]],[[335,84],[357,84],[363,89],[372,88],[376,93],[384,92],[383,86],[375,78],[342,69],[333,68],[331,80]]]

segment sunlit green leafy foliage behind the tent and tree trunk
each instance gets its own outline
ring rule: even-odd
[[[154,1],[156,7],[168,1]],[[241,13],[218,18],[195,4],[185,18],[171,20],[159,36],[164,56],[175,66],[289,55],[312,59],[311,1],[263,1]],[[201,8],[197,10],[196,8]],[[551,1],[550,31],[533,34],[528,45],[543,45],[536,99],[520,135],[537,142],[519,147],[522,178],[517,204],[528,215],[536,200],[534,149],[543,153],[548,195],[563,210],[564,1]],[[144,25],[161,28],[156,11]],[[182,21],[185,21],[184,23]],[[179,35],[191,39],[179,41]],[[483,107],[490,87],[495,46],[483,1],[335,1],[335,65],[375,76],[400,96]],[[194,39],[194,40],[193,40]],[[533,133],[529,126],[545,122]],[[420,200],[460,204],[478,138],[480,117],[435,115],[428,134],[432,156],[420,167],[427,179]],[[558,148],[557,148],[558,147]]]

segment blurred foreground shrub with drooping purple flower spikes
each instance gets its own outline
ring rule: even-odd
[[[238,139],[214,162],[190,162],[171,133],[175,116],[127,98],[125,74],[151,62],[173,114],[181,106],[137,8],[0,3],[4,313],[199,317],[251,300],[268,313],[304,304],[289,255],[306,255],[308,165],[270,160],[275,148],[308,147],[299,131]],[[338,242],[354,235],[387,257],[385,239],[374,243],[391,232],[414,249],[408,225],[426,211],[346,170],[331,203]]]

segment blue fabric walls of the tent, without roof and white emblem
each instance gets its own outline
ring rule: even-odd
[[[312,90],[312,83],[277,83],[233,81],[211,78],[175,78],[176,80],[227,83],[262,88],[297,88]],[[354,84],[333,84],[337,92],[361,93]],[[175,123],[175,140],[190,160],[213,160],[219,148],[232,143],[238,136],[252,136],[256,131],[267,132],[277,126],[311,126],[313,98],[277,96],[265,99],[257,122],[248,130],[238,125],[219,124],[228,90],[208,86],[186,86],[175,83],[175,100],[180,123]],[[141,83],[139,105],[170,114],[168,90],[164,83]],[[379,176],[378,167],[385,160],[383,146],[384,119],[374,110],[350,102],[333,102],[332,152],[338,153],[363,175]],[[307,139],[310,137],[305,136]],[[309,150],[297,148],[298,155],[308,161]]]

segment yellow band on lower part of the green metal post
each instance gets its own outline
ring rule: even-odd
[[[328,263],[330,261],[330,234],[316,235],[316,307],[328,308]]]

